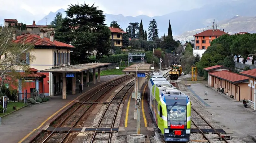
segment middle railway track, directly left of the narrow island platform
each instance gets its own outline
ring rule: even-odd
[[[107,108],[105,109],[103,115],[99,120],[91,143],[109,143],[111,141],[112,129],[114,127],[118,108],[121,104],[122,99],[133,85],[133,81],[126,84],[109,102]],[[97,132],[98,128],[111,128],[111,131],[101,133]]]

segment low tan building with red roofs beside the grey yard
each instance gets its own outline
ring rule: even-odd
[[[229,68],[219,65],[207,67],[204,70],[208,71],[210,87],[222,91],[227,96],[233,96],[238,101],[248,98],[249,78],[247,76],[231,72]]]

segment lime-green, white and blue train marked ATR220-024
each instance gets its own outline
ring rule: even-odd
[[[189,141],[189,96],[170,84],[160,73],[152,73],[148,77],[148,104],[158,132],[163,135],[165,141]]]

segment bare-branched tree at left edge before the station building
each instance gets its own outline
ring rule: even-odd
[[[16,40],[15,34],[13,28],[0,29],[0,87],[5,82],[15,84],[15,80],[23,79],[28,72],[17,71],[28,71],[29,63],[35,59],[30,54],[34,46],[25,43],[26,39]]]

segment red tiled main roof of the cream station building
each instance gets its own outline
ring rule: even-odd
[[[53,46],[53,47],[68,47],[68,48],[74,48],[74,46],[62,43],[59,41],[54,40],[54,42],[51,42],[49,38],[40,38],[39,35],[34,34],[25,34],[20,35],[16,37],[16,40],[13,40],[14,43],[30,43],[35,46]]]

